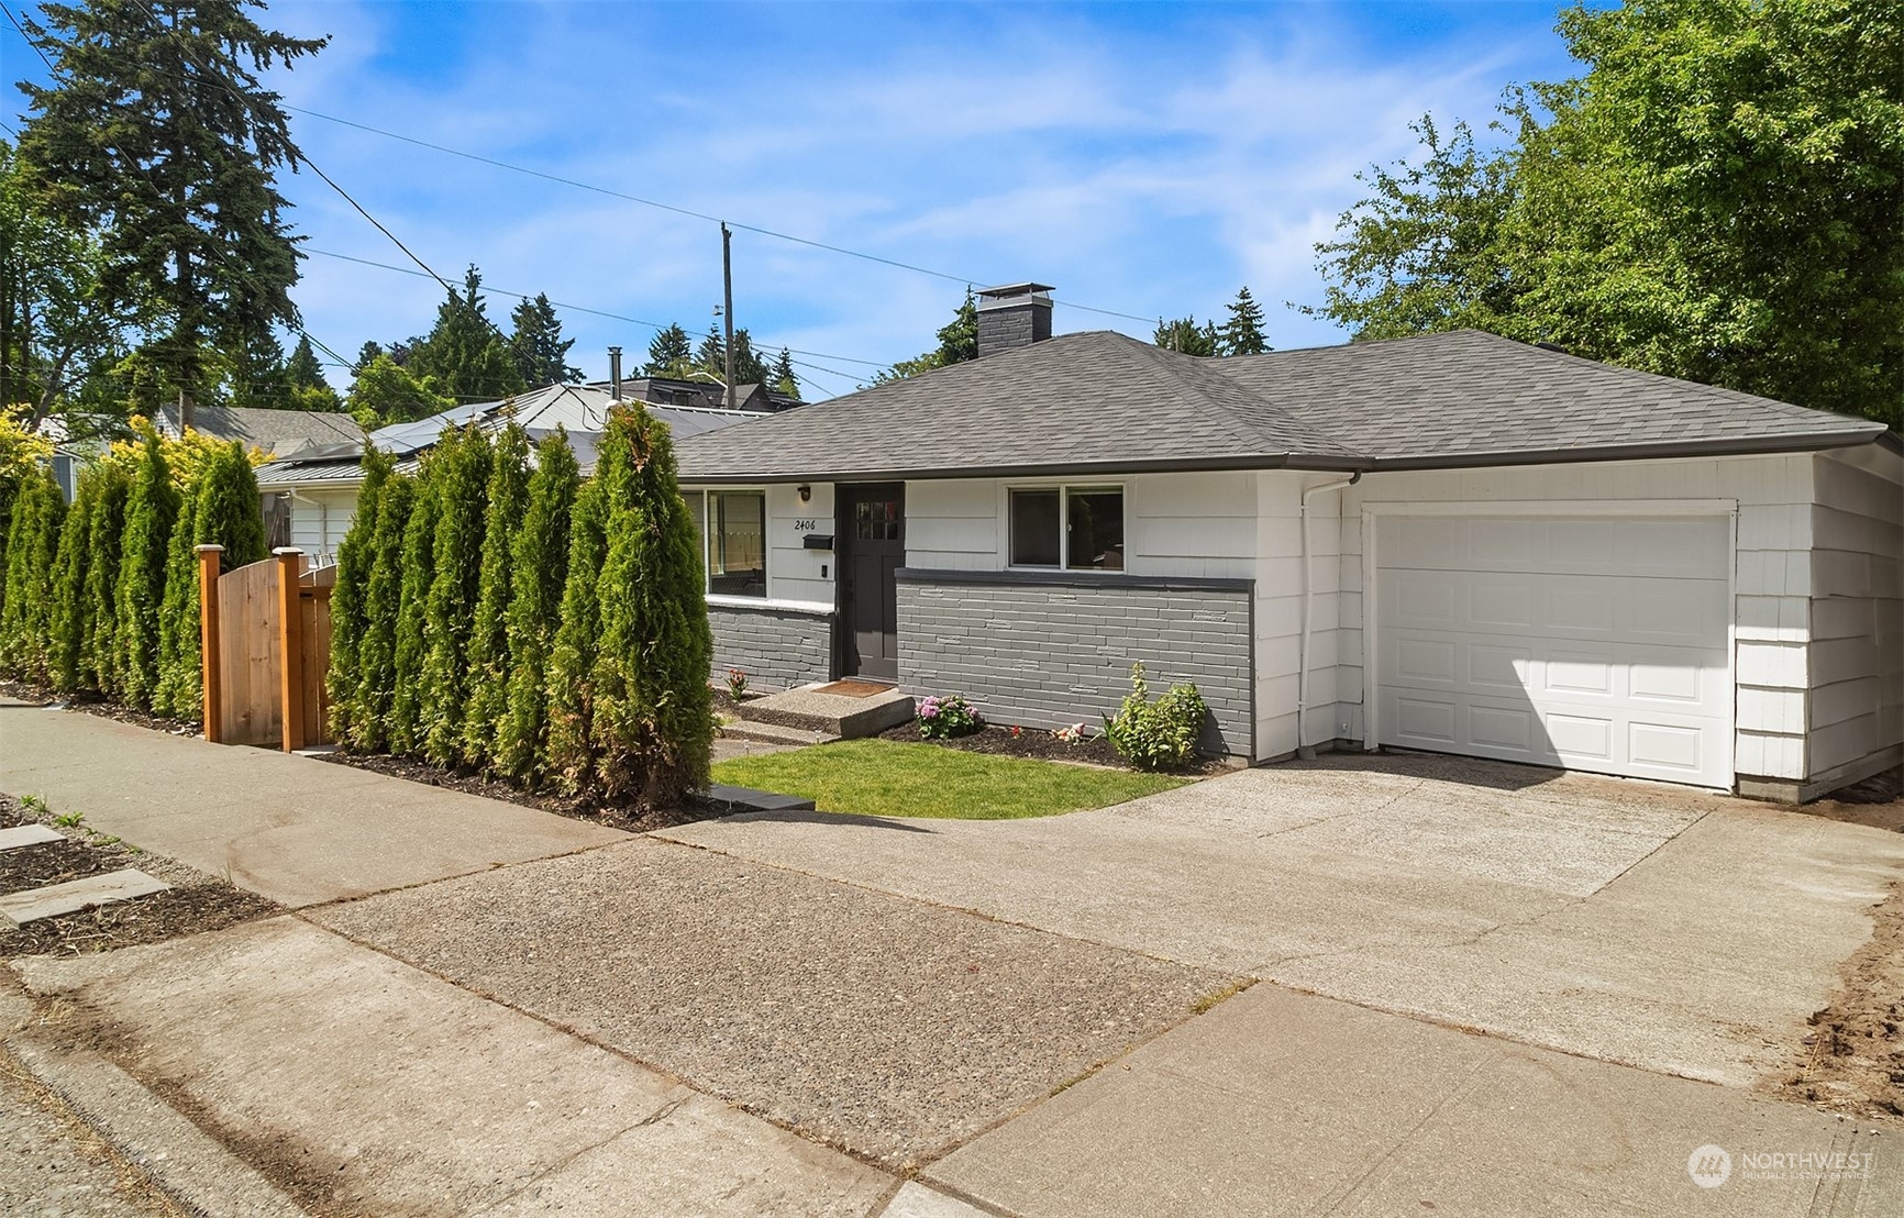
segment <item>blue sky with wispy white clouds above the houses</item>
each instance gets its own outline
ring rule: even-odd
[[[274,74],[291,107],[815,242],[735,234],[735,316],[809,396],[933,344],[975,285],[1057,285],[1059,331],[1220,312],[1249,284],[1278,346],[1344,339],[1312,246],[1407,124],[1485,122],[1571,72],[1556,4],[316,4],[263,21],[331,46]],[[25,70],[6,32],[8,76]],[[38,65],[32,65],[38,67]],[[19,108],[19,103],[11,107]],[[691,219],[293,112],[305,152],[444,276],[703,331],[720,234]],[[312,251],[295,299],[352,356],[428,329],[442,289],[316,175],[284,179]],[[326,253],[316,253],[326,251]],[[493,297],[499,322],[514,301]],[[562,308],[571,360],[638,362],[634,322]],[[843,375],[842,375],[843,373]],[[345,377],[333,377],[343,388]]]

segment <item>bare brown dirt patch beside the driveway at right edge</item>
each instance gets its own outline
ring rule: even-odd
[[[1786,1098],[1864,1117],[1904,1117],[1904,885],[1872,906],[1872,938],[1839,969],[1832,1005],[1811,1016]]]

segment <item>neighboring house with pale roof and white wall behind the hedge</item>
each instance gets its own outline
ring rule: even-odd
[[[594,468],[594,438],[607,419],[615,398],[598,384],[548,384],[506,402],[459,405],[417,422],[396,422],[369,434],[369,442],[398,457],[400,472],[415,472],[417,459],[436,443],[449,424],[476,422],[487,432],[499,432],[510,417],[541,440],[558,426],[569,434],[583,472]],[[704,407],[649,405],[649,413],[666,421],[674,436],[731,426],[760,413],[722,411]],[[276,413],[276,411],[249,411]],[[337,558],[337,546],[356,516],[358,485],[364,481],[364,436],[347,443],[305,449],[289,461],[259,466],[257,485],[265,493],[265,521],[272,546],[299,546],[316,563]]]

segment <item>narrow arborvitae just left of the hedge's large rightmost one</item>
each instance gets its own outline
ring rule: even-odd
[[[617,445],[617,451],[626,453],[626,445]],[[569,516],[569,571],[562,586],[562,624],[548,653],[548,748],[543,773],[571,796],[594,782],[588,721],[594,714],[594,658],[602,638],[596,580],[607,556],[604,457],[605,453],[598,449],[596,476],[575,495],[575,512]]]

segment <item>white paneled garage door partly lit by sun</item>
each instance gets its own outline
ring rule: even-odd
[[[1733,782],[1725,516],[1377,516],[1377,738]]]

